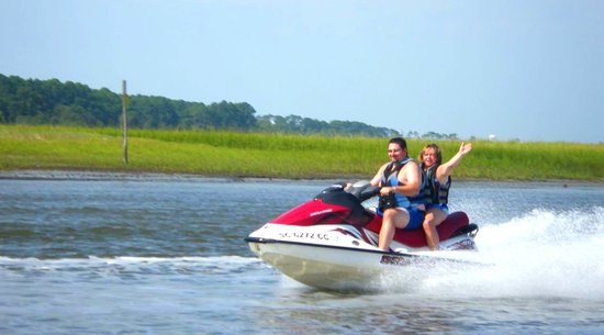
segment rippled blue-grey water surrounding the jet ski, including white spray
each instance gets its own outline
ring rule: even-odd
[[[489,266],[337,294],[243,238],[327,181],[0,175],[1,334],[602,334],[604,187],[456,182]]]

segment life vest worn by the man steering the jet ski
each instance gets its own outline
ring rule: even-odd
[[[402,186],[402,183],[399,181],[399,171],[405,166],[405,164],[412,161],[413,159],[410,157],[406,157],[405,159],[401,161],[391,161],[388,164],[385,169],[383,170],[383,175],[380,179],[380,186],[381,187],[395,187],[395,186]],[[392,169],[392,166],[394,166],[394,169]],[[380,210],[391,209],[391,208],[416,208],[420,205],[423,205],[426,203],[425,197],[424,197],[424,175],[422,174],[422,181],[420,185],[420,192],[413,197],[406,197],[401,193],[392,193],[389,196],[380,196],[379,205],[378,208]]]

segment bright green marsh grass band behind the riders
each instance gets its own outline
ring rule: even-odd
[[[0,125],[0,171],[71,170],[182,174],[223,178],[368,179],[388,157],[388,138],[208,131],[128,133],[122,161],[116,129]],[[415,158],[433,141],[407,141]],[[437,141],[444,158],[459,141]],[[456,169],[461,180],[604,182],[604,145],[473,142]]]

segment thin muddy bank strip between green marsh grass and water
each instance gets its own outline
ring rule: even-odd
[[[272,177],[245,177],[245,176],[206,176],[195,174],[161,174],[145,171],[101,171],[101,170],[60,170],[60,169],[23,169],[23,170],[0,170],[0,180],[78,180],[78,181],[103,181],[103,180],[125,180],[125,181],[228,181],[228,182],[309,182],[309,183],[329,183],[338,181],[356,181],[369,178],[359,176],[343,176],[343,178],[272,178]],[[604,187],[603,181],[569,180],[569,179],[544,179],[544,180],[490,180],[476,178],[455,178],[455,182],[460,183],[530,183],[541,186],[561,186],[561,187]]]

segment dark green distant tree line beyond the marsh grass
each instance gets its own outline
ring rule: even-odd
[[[233,130],[339,136],[389,137],[399,132],[361,122],[325,122],[297,115],[256,115],[247,102],[189,102],[164,97],[127,98],[128,126],[138,129]],[[122,96],[107,88],[57,79],[0,74],[0,123],[119,126]]]

